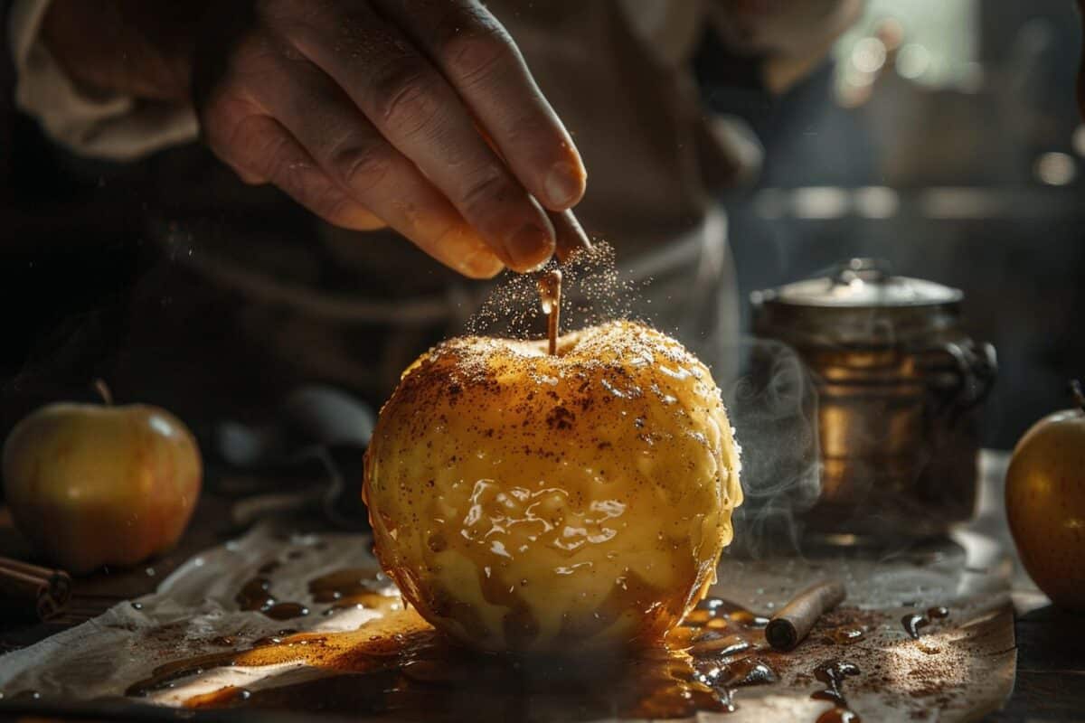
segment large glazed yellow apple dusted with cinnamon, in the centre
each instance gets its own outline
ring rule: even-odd
[[[646,644],[715,581],[741,503],[709,370],[614,322],[423,354],[376,423],[374,547],[431,623],[484,650]]]

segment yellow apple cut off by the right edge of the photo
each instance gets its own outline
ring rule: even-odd
[[[1006,515],[1024,569],[1059,607],[1085,611],[1085,398],[1037,422],[1013,450]]]

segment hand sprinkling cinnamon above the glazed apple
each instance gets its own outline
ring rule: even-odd
[[[480,2],[210,4],[196,108],[246,182],[337,225],[391,225],[469,276],[553,254],[546,210],[579,201],[584,166]]]

